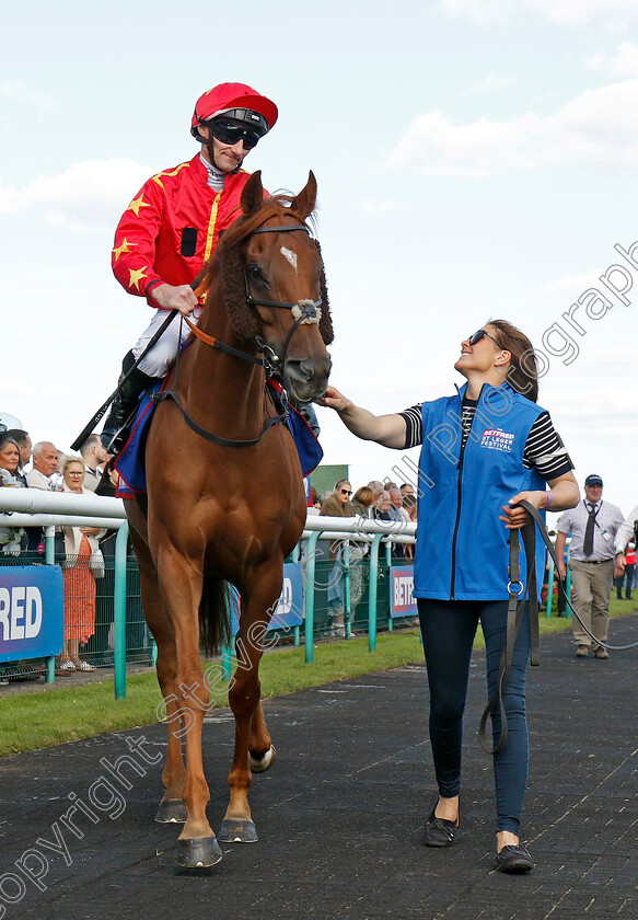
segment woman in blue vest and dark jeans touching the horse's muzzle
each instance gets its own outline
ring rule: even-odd
[[[439,800],[426,825],[428,847],[450,847],[459,826],[463,711],[472,646],[480,622],[486,642],[488,698],[498,691],[506,644],[510,530],[524,527],[526,501],[537,509],[572,507],[578,487],[572,463],[549,414],[536,405],[538,380],[530,340],[494,320],[463,340],[454,365],[461,391],[395,414],[374,415],[328,386],[320,403],[364,440],[396,450],[422,445],[419,470],[433,483],[419,501],[415,589],[430,688],[430,740]],[[498,425],[485,430],[485,417]],[[459,419],[452,427],[450,419]],[[453,434],[443,452],[429,433],[445,425]],[[472,437],[471,437],[472,434]],[[515,444],[517,449],[511,450]],[[549,483],[550,491],[545,490]],[[463,501],[460,501],[460,497]],[[499,509],[501,514],[499,516]],[[503,526],[504,525],[504,526]],[[537,564],[544,557],[538,547]],[[456,553],[463,553],[457,565]],[[507,744],[495,751],[497,864],[502,872],[533,867],[520,843],[527,783],[529,738],[525,671],[530,655],[529,609],[513,645],[502,705]],[[491,713],[494,743],[500,740],[498,708]]]

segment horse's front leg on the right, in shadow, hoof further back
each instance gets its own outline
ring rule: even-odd
[[[252,750],[253,757],[264,762],[267,752],[272,750],[259,703],[258,671],[271,609],[281,594],[281,571],[280,565],[272,567],[270,564],[257,583],[252,582],[250,594],[242,594],[237,666],[229,691],[235,717],[235,750],[228,778],[230,802],[219,831],[219,839],[224,842],[253,843],[257,840],[248,805],[252,783],[248,752]],[[271,758],[270,754],[269,762]]]

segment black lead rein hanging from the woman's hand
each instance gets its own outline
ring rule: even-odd
[[[512,662],[513,662],[513,654],[514,654],[514,645],[517,641],[517,635],[519,629],[521,626],[524,610],[525,610],[525,596],[529,596],[529,603],[530,603],[530,633],[531,633],[531,653],[530,653],[530,664],[532,666],[537,666],[540,664],[538,657],[538,593],[537,593],[537,583],[536,583],[536,565],[535,565],[535,556],[536,556],[536,528],[538,528],[538,532],[545,543],[547,552],[554,562],[554,570],[558,578],[558,590],[562,591],[565,600],[571,610],[572,614],[576,617],[580,625],[583,628],[585,633],[592,639],[596,645],[600,645],[602,648],[607,648],[612,652],[626,652],[629,648],[638,647],[638,642],[630,642],[628,645],[610,645],[608,643],[601,642],[600,639],[593,635],[593,633],[588,629],[588,626],[582,622],[580,619],[577,610],[573,608],[570,598],[567,596],[567,591],[565,589],[565,579],[560,575],[560,565],[558,561],[558,556],[556,555],[556,549],[554,543],[549,539],[549,534],[547,533],[547,528],[545,527],[545,522],[536,508],[531,505],[529,502],[520,502],[519,503],[522,508],[527,511],[527,521],[526,524],[517,530],[510,531],[510,562],[509,562],[509,582],[508,582],[508,613],[507,613],[507,631],[506,631],[506,645],[503,647],[501,659],[499,664],[499,671],[498,671],[498,687],[496,692],[492,694],[491,699],[489,700],[488,704],[486,705],[483,715],[480,716],[480,724],[478,727],[478,737],[482,744],[483,749],[487,754],[498,754],[500,750],[503,749],[507,739],[508,739],[508,720],[502,702],[502,690],[504,683],[509,677]],[[525,551],[525,562],[527,567],[527,582],[525,585],[522,584],[520,580],[520,562],[519,562],[519,553],[520,553],[520,533],[522,533],[523,538],[523,549]],[[498,703],[500,718],[501,718],[501,728],[500,728],[500,737],[496,747],[492,747],[487,737],[487,718],[490,712],[496,708]]]

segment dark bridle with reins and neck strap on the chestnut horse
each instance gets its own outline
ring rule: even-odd
[[[279,225],[277,227],[257,227],[253,230],[246,239],[257,234],[257,233],[289,233],[293,231],[302,231],[304,233],[309,233],[310,231],[304,223],[288,223],[288,225]],[[297,332],[300,325],[302,324],[311,324],[311,323],[318,323],[322,317],[321,304],[322,298],[320,297],[318,300],[299,300],[297,303],[292,303],[285,300],[259,300],[251,294],[251,287],[248,283],[248,276],[246,274],[246,266],[244,264],[244,287],[246,291],[246,304],[251,308],[255,307],[275,307],[285,310],[290,310],[292,317],[294,319],[294,323],[290,329],[286,337],[286,342],[283,343],[283,348],[281,355],[278,355],[277,352],[264,342],[260,335],[255,335],[254,341],[262,353],[262,357],[255,357],[253,355],[248,355],[245,352],[241,352],[239,348],[233,348],[231,345],[225,345],[223,342],[220,342],[219,338],[214,338],[212,335],[208,335],[205,332],[201,332],[195,323],[185,317],[184,314],[181,315],[179,321],[185,322],[190,332],[199,338],[200,342],[204,342],[206,345],[210,345],[210,347],[216,348],[219,352],[225,352],[229,355],[232,355],[235,358],[240,358],[240,360],[250,361],[251,364],[257,365],[263,367],[266,372],[266,379],[269,379],[277,372],[282,372],[283,367],[286,365],[286,356],[288,353],[288,346],[290,345],[290,341],[292,336]],[[182,336],[179,335],[177,342],[181,342]],[[288,410],[285,407],[287,404],[287,394],[286,391],[282,389],[283,395],[283,412],[282,414],[277,414],[272,416],[267,416],[266,421],[264,422],[264,427],[262,433],[256,438],[250,438],[245,440],[240,439],[232,439],[232,438],[223,438],[220,435],[214,435],[212,432],[207,430],[194,418],[192,418],[186,410],[182,404],[182,400],[179,394],[177,393],[177,375],[179,370],[179,354],[181,354],[181,346],[177,345],[177,355],[175,358],[175,378],[173,381],[173,389],[172,390],[162,390],[159,393],[151,393],[149,394],[149,399],[153,402],[163,402],[166,399],[173,399],[181,412],[184,416],[184,421],[188,425],[188,427],[198,434],[200,437],[206,438],[206,440],[211,441],[212,444],[220,445],[221,447],[253,447],[254,445],[258,444],[266,432],[272,427],[272,425],[280,424],[285,422],[288,417]]]

